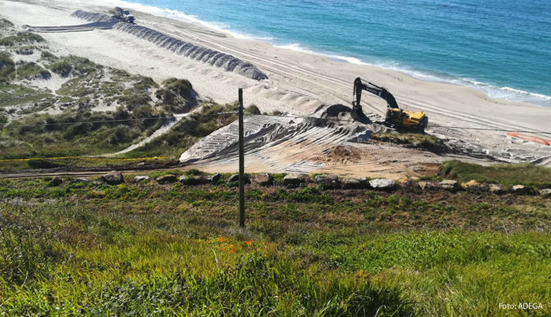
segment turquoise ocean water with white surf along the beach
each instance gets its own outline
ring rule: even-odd
[[[130,2],[238,37],[551,106],[550,0]]]

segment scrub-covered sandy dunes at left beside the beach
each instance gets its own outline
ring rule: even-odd
[[[42,37],[17,32],[13,23],[4,19],[0,31],[0,160],[118,152],[174,120],[173,114],[199,105],[193,86],[185,79],[156,83],[89,59],[56,56]],[[59,85],[55,91],[50,90],[50,81]],[[228,107],[206,105],[202,113]],[[235,116],[185,120],[157,140],[167,147],[149,146],[121,158],[179,156],[198,138],[232,119]],[[124,164],[71,159],[38,165]],[[37,162],[7,162],[0,169],[33,167]]]

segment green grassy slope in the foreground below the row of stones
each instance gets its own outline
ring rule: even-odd
[[[537,196],[249,185],[243,230],[224,181],[0,180],[0,197],[7,316],[551,314]]]

